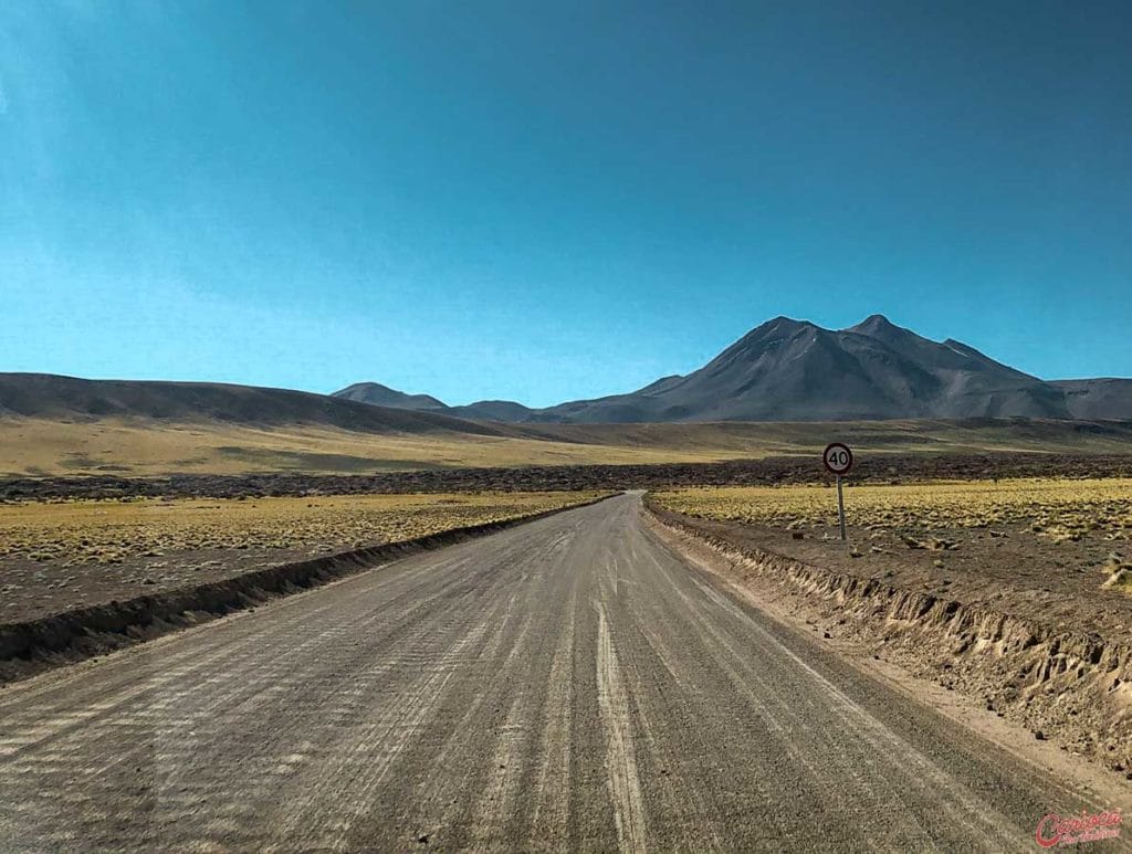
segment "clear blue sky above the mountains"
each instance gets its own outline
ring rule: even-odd
[[[0,0],[0,370],[627,391],[787,314],[1132,376],[1132,3]]]

